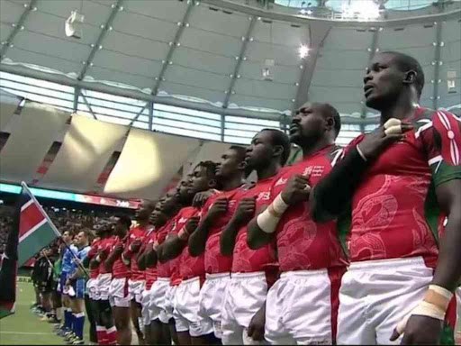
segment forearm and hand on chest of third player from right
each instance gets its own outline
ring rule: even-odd
[[[230,256],[235,247],[235,238],[240,230],[240,227],[248,223],[251,217],[255,214],[256,196],[242,198],[232,215],[230,222],[224,227],[221,232],[220,250],[223,255]]]

